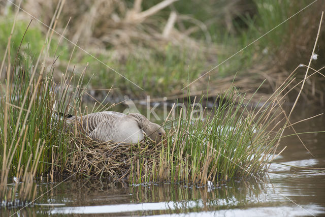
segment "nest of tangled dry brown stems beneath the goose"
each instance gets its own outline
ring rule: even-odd
[[[162,146],[148,137],[139,144],[97,143],[90,138],[79,138],[72,139],[71,145],[73,154],[69,158],[66,171],[70,174],[113,180],[141,178],[139,163],[147,168],[157,165],[154,161],[158,159],[154,158],[154,153],[160,152]]]

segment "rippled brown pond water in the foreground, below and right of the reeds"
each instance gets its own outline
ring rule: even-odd
[[[305,112],[308,111],[308,112]],[[293,122],[322,112],[302,108]],[[320,116],[294,126],[297,132],[325,131]],[[290,130],[286,134],[291,134]],[[325,168],[325,134],[285,137],[275,161],[297,167]],[[294,168],[272,164],[263,179],[230,181],[219,187],[193,187],[185,184],[145,183],[128,185],[107,180],[68,180],[39,182],[36,204],[20,210],[17,216],[325,216],[325,170]],[[49,192],[47,192],[49,191]],[[1,210],[9,216],[18,209]]]

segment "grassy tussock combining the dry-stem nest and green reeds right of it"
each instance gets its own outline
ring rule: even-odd
[[[77,140],[69,172],[131,183],[200,185],[264,174],[286,124],[279,118],[279,95],[286,85],[282,84],[262,108],[249,106],[247,100],[244,103],[245,94],[239,94],[235,87],[220,95],[218,102],[223,104],[216,104],[213,111],[201,111],[203,116],[198,116],[203,98],[188,102],[186,111],[173,108],[170,114],[176,112],[179,117],[166,120],[171,123],[167,146],[149,139],[139,144]]]

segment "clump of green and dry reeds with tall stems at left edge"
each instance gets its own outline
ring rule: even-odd
[[[7,57],[6,80],[0,82],[0,202],[6,206],[24,205],[35,198],[36,175],[50,173],[53,178],[55,168],[64,170],[69,142],[65,125],[55,117],[54,111],[67,112],[71,105],[79,107],[81,94],[80,86],[71,93],[72,76],[64,77],[60,85],[52,80],[54,63],[48,68],[50,73],[45,72],[47,55],[42,54],[45,44],[35,65],[28,49],[19,53],[29,25],[15,50],[16,57],[11,58],[17,14],[0,69]],[[49,33],[45,42],[50,44]],[[41,58],[43,63],[39,66]],[[16,184],[8,187],[12,178]]]

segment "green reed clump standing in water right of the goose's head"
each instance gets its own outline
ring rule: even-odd
[[[285,86],[262,108],[248,107],[245,94],[235,88],[224,92],[224,103],[201,118],[195,114],[198,104],[189,102],[187,112],[179,109],[179,117],[172,120],[166,148],[134,154],[129,179],[206,184],[263,174],[285,127],[276,100]]]

